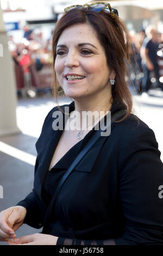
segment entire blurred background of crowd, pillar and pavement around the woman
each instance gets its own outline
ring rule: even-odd
[[[57,105],[51,65],[55,23],[64,8],[92,2],[0,0],[0,211],[16,205],[33,188],[35,143],[47,113]],[[154,131],[162,153],[163,1],[109,3],[126,23],[134,50],[133,69],[128,67],[126,77],[133,112]],[[59,96],[58,101],[62,105],[72,99]],[[23,224],[16,234],[39,231]]]

